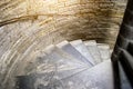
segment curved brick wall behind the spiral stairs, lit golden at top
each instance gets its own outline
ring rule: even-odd
[[[94,39],[113,47],[126,0],[0,0],[0,89],[28,75],[45,46]]]

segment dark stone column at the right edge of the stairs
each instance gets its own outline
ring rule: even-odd
[[[115,87],[120,87],[119,78],[119,62],[122,65],[131,85],[133,87],[133,55],[131,53],[133,49],[133,0],[129,0],[123,22],[120,28],[117,40],[112,53],[112,61],[114,67],[114,83]],[[131,51],[131,52],[130,52]],[[120,88],[116,88],[120,89]]]

